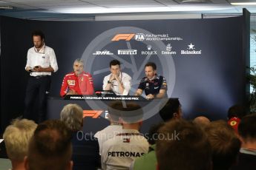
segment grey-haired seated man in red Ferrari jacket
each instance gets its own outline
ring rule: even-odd
[[[73,63],[73,72],[65,75],[62,81],[60,95],[93,95],[93,78],[84,70],[84,61],[76,59]]]

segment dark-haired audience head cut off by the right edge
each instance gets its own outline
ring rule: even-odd
[[[256,113],[242,118],[238,126],[238,135],[242,141],[242,148],[256,149]]]

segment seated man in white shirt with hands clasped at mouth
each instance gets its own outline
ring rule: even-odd
[[[109,64],[111,74],[103,80],[103,90],[112,90],[116,95],[128,95],[131,89],[131,76],[120,70],[120,62],[112,60]]]

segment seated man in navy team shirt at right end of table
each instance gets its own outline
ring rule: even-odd
[[[165,77],[157,75],[157,66],[152,62],[145,64],[145,77],[140,81],[134,95],[142,95],[145,91],[146,99],[164,98],[167,96],[167,83]]]

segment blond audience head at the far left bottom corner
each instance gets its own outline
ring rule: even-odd
[[[19,166],[24,167],[23,161],[24,157],[27,156],[28,143],[36,126],[33,120],[16,119],[5,129],[4,143],[13,170],[19,169]]]

